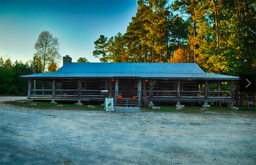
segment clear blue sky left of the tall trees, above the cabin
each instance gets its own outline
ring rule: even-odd
[[[79,57],[99,62],[92,55],[93,42],[101,34],[124,34],[136,12],[136,0],[1,0],[0,56],[9,53],[12,62],[31,60],[39,34],[49,31],[59,39],[62,56],[70,55],[73,62]]]

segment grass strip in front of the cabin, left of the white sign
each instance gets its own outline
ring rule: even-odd
[[[25,108],[35,108],[35,109],[66,109],[66,110],[93,110],[93,111],[104,111],[104,106],[94,105],[95,108],[87,108],[87,105],[78,106],[74,104],[61,104],[61,103],[47,103],[47,102],[25,102],[25,103],[16,103],[11,101],[6,101],[6,104],[25,107]],[[31,103],[36,103],[37,106],[31,106]],[[63,105],[64,107],[57,107],[57,105]]]

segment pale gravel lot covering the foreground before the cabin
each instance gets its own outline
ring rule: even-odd
[[[0,106],[1,165],[255,165],[246,115]]]

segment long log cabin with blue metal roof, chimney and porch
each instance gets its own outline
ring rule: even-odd
[[[233,81],[239,80],[205,73],[195,63],[78,63],[70,56],[63,57],[63,66],[56,72],[20,77],[29,79],[27,98],[31,100],[103,103],[106,97],[113,97],[115,106],[139,107],[143,95],[153,103],[226,102],[233,106]],[[32,80],[42,81],[41,89],[36,89]],[[50,89],[45,82],[52,83]],[[229,82],[230,90],[220,91],[222,82]],[[211,83],[216,83],[217,89],[209,91]]]

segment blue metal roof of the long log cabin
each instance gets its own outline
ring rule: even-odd
[[[64,64],[58,71],[22,78],[192,78],[239,79],[235,76],[204,73],[195,63],[83,63]]]

